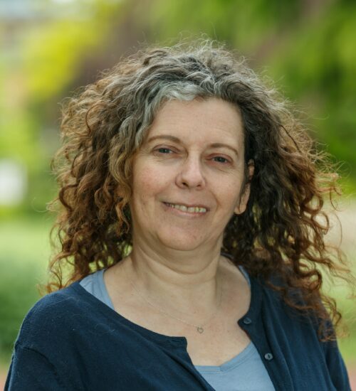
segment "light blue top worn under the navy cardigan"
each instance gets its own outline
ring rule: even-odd
[[[248,274],[240,267],[250,284]],[[104,282],[105,269],[88,275],[80,285],[90,294],[114,309]],[[215,365],[195,365],[195,368],[216,391],[274,391],[265,366],[252,342],[226,363]]]

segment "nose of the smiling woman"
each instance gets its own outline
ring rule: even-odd
[[[204,188],[205,178],[198,157],[187,157],[179,168],[176,183],[180,188]]]

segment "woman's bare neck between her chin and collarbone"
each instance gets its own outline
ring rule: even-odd
[[[142,295],[172,314],[206,317],[219,304],[221,244],[192,252],[153,250],[134,241],[126,272]]]

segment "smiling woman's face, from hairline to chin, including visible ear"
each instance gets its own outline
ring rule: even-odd
[[[150,246],[194,250],[222,243],[246,209],[244,132],[232,104],[210,98],[167,102],[132,166],[133,237]],[[251,172],[250,172],[251,173]]]

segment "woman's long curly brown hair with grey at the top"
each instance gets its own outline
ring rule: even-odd
[[[322,294],[320,267],[351,278],[342,252],[324,240],[324,198],[338,193],[337,175],[276,90],[211,41],[140,50],[63,105],[63,146],[53,160],[60,190],[50,204],[59,206],[52,230],[59,249],[46,291],[130,253],[132,157],[163,102],[209,97],[239,107],[245,164],[254,163],[246,211],[229,221],[221,251],[280,291],[290,308],[313,311],[322,320],[320,335],[333,338],[326,325],[331,319],[336,326],[341,314]]]

